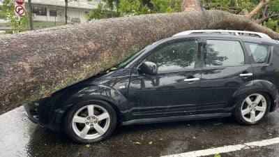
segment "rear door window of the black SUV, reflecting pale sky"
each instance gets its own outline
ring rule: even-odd
[[[205,64],[206,67],[243,65],[241,43],[236,40],[207,40]]]

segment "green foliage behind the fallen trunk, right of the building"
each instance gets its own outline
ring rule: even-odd
[[[202,0],[202,6],[206,9],[224,10],[229,13],[240,14],[244,9],[253,10],[259,0]],[[104,0],[98,8],[91,10],[89,20],[108,17],[133,16],[150,13],[180,12],[181,0]],[[260,11],[254,19],[261,19],[269,15],[279,14],[279,0],[269,3],[266,12]],[[279,17],[264,22],[264,26],[279,30]]]

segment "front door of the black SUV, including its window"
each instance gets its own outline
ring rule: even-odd
[[[170,40],[148,52],[144,61],[156,63],[157,75],[133,68],[128,98],[133,119],[194,114],[199,96],[202,38]]]

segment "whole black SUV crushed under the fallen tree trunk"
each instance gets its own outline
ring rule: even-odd
[[[87,143],[116,124],[231,115],[257,124],[278,108],[278,87],[278,41],[257,32],[186,31],[24,107],[31,121]]]

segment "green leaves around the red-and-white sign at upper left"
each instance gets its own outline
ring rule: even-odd
[[[12,1],[4,0],[0,15],[5,17],[8,24],[13,27],[13,31],[26,31],[28,24],[27,15],[24,15],[19,19],[15,14],[14,8],[15,6]]]

